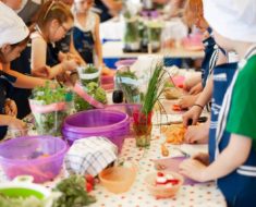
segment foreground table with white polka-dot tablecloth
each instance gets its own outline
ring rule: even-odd
[[[155,171],[151,159],[162,158],[160,153],[161,138],[155,138],[159,135],[159,129],[154,127],[153,141],[149,149],[141,149],[135,146],[134,138],[126,138],[120,154],[120,159],[132,160],[138,165],[138,173],[135,182],[129,192],[122,194],[112,194],[108,192],[103,186],[96,185],[96,190],[93,191],[93,195],[96,196],[97,203],[92,207],[221,207],[225,206],[224,198],[219,190],[217,190],[214,182],[197,184],[197,185],[183,185],[173,198],[156,199],[147,192],[144,179],[149,172]],[[181,155],[178,150],[174,150],[173,145],[167,145],[171,156]],[[176,146],[175,146],[176,147]],[[207,150],[206,145],[181,145],[182,150],[193,155],[196,151]],[[64,178],[64,171],[56,178],[53,182],[47,182],[44,185],[51,187],[58,181]],[[5,175],[0,169],[0,183],[5,181]]]

